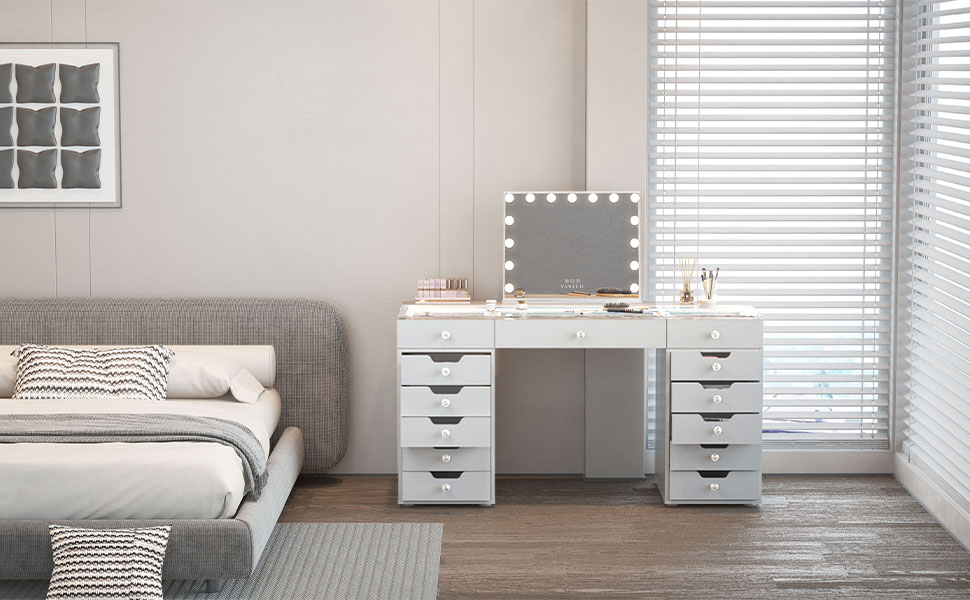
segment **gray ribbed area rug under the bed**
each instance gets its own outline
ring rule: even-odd
[[[415,599],[438,595],[441,523],[278,523],[249,579],[206,594],[169,581],[172,600]],[[47,582],[0,582],[0,599],[39,600]]]

